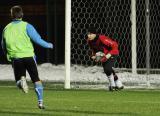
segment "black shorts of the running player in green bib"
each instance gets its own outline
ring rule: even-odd
[[[40,81],[34,57],[14,58],[12,59],[12,67],[16,82],[22,76],[26,76],[26,71],[28,71],[33,83]]]

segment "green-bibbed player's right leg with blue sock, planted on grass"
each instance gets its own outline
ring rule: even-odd
[[[43,85],[42,81],[39,79],[37,64],[34,58],[26,58],[26,68],[31,77],[32,82],[34,83],[35,92],[38,99],[38,107],[44,109],[43,105]]]

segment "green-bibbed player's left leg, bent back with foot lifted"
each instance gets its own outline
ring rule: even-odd
[[[17,86],[23,90],[24,93],[28,93],[28,85],[26,81],[26,69],[23,63],[23,59],[13,59],[12,67],[14,70],[14,76]]]

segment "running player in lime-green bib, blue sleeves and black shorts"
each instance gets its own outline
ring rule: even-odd
[[[36,44],[53,49],[53,44],[44,41],[35,28],[22,20],[23,10],[20,6],[11,8],[12,21],[4,28],[2,46],[8,61],[12,63],[17,86],[28,93],[26,70],[28,71],[38,98],[38,107],[44,109],[43,85],[37,71],[34,48]]]

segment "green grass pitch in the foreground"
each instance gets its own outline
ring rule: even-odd
[[[30,88],[0,87],[0,116],[160,116],[159,90],[63,90],[45,87],[45,110]]]

